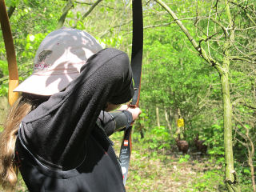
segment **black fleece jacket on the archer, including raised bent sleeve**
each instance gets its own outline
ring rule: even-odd
[[[78,78],[23,118],[16,159],[30,191],[122,192],[122,172],[98,116],[134,94],[128,56],[105,49]]]

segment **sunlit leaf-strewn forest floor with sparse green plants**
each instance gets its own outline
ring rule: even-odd
[[[118,154],[122,134],[111,139]],[[172,150],[151,149],[150,140],[133,140],[126,192],[226,192],[223,167],[210,155],[184,155],[175,146]],[[0,191],[6,192],[1,187]],[[20,175],[15,192],[28,192]]]

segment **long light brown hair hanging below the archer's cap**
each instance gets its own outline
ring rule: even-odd
[[[14,163],[14,148],[19,124],[26,114],[46,99],[45,96],[23,93],[9,110],[4,130],[0,133],[0,184],[4,188],[14,188],[17,182],[18,167]]]

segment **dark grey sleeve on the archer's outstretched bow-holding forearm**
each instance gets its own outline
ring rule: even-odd
[[[128,110],[116,110],[113,112],[101,111],[98,120],[105,130],[106,134],[110,136],[115,131],[122,130],[133,122],[132,114]]]

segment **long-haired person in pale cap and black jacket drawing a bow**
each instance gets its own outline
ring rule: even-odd
[[[108,138],[141,114],[115,110],[134,94],[124,52],[102,49],[82,30],[55,30],[14,91],[22,94],[0,134],[2,186],[13,188],[20,170],[30,191],[125,191]]]

